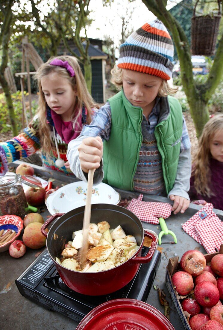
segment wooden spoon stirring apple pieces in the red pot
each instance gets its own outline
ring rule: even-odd
[[[94,178],[94,169],[91,169],[88,172],[87,196],[86,196],[86,205],[84,208],[83,246],[80,249],[80,262],[83,265],[86,263],[87,260],[88,228],[89,228],[89,223],[91,222],[91,196],[92,196],[93,178]]]

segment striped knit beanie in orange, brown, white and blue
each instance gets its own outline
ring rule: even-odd
[[[172,77],[174,46],[163,23],[155,19],[133,32],[120,46],[119,68],[165,80]]]

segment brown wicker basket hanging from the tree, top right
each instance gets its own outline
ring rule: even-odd
[[[214,55],[218,34],[220,15],[220,1],[218,1],[218,15],[195,16],[197,0],[191,20],[191,54]]]

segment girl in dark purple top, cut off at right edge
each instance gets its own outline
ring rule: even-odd
[[[223,114],[204,126],[192,165],[189,196],[223,210]],[[205,201],[204,201],[205,200]]]

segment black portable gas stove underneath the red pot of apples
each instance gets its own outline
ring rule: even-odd
[[[142,255],[148,248],[142,249]],[[146,302],[161,253],[155,251],[149,263],[141,264],[135,277],[122,289],[103,296],[87,296],[71,290],[59,277],[47,249],[15,280],[22,296],[49,310],[80,322],[96,306],[113,299],[131,298]]]

